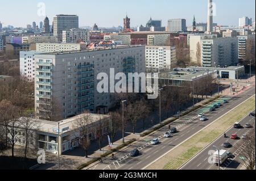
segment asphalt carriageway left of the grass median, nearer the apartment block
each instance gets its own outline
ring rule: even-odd
[[[242,92],[238,96],[226,96],[225,99],[229,99],[229,103],[218,108],[214,112],[207,112],[207,121],[200,121],[197,118],[197,114],[206,109],[197,110],[189,113],[188,115],[181,117],[181,119],[174,121],[171,125],[177,128],[177,133],[173,134],[171,138],[163,138],[163,134],[168,131],[168,126],[160,129],[158,132],[148,136],[146,139],[132,144],[128,148],[118,151],[115,154],[115,159],[105,159],[102,163],[98,163],[90,167],[90,170],[142,170],[156,159],[167,153],[181,142],[191,137],[193,134],[201,131],[204,127],[212,123],[218,117],[224,115],[226,112],[232,110],[238,104],[244,102],[250,96],[255,94],[255,87]],[[220,102],[220,101],[216,101]],[[150,145],[153,138],[159,137],[160,143],[158,145]],[[130,157],[129,153],[133,149],[140,149],[141,154],[138,157]]]

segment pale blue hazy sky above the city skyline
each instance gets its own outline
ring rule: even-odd
[[[213,22],[223,26],[238,26],[238,19],[248,16],[255,20],[255,0],[213,0],[216,16]],[[43,3],[43,4],[42,4]],[[45,5],[45,11],[42,11]],[[38,7],[39,6],[39,7]],[[39,13],[38,13],[39,12]],[[123,26],[123,18],[131,18],[131,27],[146,25],[152,19],[162,20],[167,26],[168,19],[187,19],[192,25],[207,22],[207,0],[11,0],[0,2],[0,22],[3,26],[26,27],[39,24],[47,15],[50,22],[56,14],[76,14],[79,26],[98,27]],[[50,23],[51,24],[51,23]]]

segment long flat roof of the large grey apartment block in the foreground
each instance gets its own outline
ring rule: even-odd
[[[104,51],[104,50],[113,50],[113,49],[124,49],[124,48],[136,48],[136,47],[145,47],[142,45],[121,45],[115,48],[106,48],[106,49],[81,49],[81,50],[74,50],[74,51],[67,51],[67,52],[51,52],[51,53],[39,53],[44,55],[61,55],[61,54],[72,54],[72,53],[84,53],[84,52],[97,52],[97,51]]]

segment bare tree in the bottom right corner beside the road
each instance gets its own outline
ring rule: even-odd
[[[254,170],[255,167],[255,125],[254,128],[246,135],[246,139],[240,144],[236,145],[236,148],[244,145],[245,148],[241,152],[242,165],[247,170]]]

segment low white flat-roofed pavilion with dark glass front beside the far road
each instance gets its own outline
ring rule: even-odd
[[[189,69],[194,69],[198,71],[217,71],[219,78],[226,79],[237,79],[245,75],[245,66],[229,66],[226,68],[212,68],[212,67],[195,67],[191,66]]]

